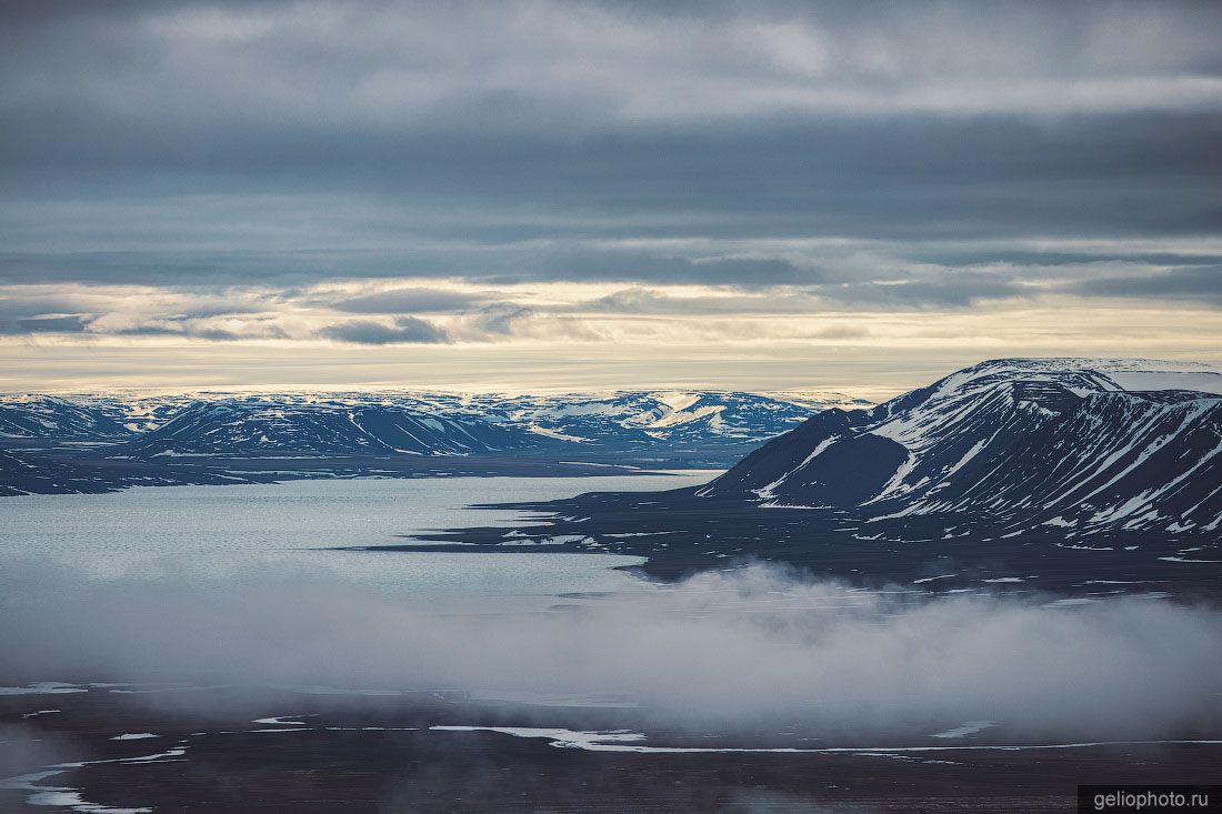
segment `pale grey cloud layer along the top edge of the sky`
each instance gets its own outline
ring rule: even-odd
[[[331,0],[310,4],[312,13],[297,0],[48,5],[57,7],[6,11],[23,24],[6,26],[5,100],[34,111],[67,103],[101,121],[169,114],[153,137],[219,114],[230,126],[277,119],[362,133],[379,120],[391,130],[453,128],[475,116],[500,130],[573,131],[783,111],[1218,105],[1218,60],[1205,32],[1222,15],[1207,5],[1163,4],[1154,13],[1055,4],[981,12],[969,2],[924,12],[848,2],[373,2],[358,11]],[[1047,37],[1052,27],[1058,37]],[[88,46],[76,42],[64,51],[72,59],[44,66],[39,81],[33,60],[84,32],[95,34]],[[243,82],[249,76],[264,82]],[[175,97],[183,87],[194,89],[196,110]]]

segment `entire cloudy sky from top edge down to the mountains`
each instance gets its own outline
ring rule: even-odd
[[[1222,4],[0,4],[0,390],[1222,363]]]

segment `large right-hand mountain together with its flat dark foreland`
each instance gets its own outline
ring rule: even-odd
[[[544,522],[429,543],[623,554],[666,579],[763,561],[915,592],[1218,600],[1222,372],[995,359],[819,412],[704,486],[511,507]]]

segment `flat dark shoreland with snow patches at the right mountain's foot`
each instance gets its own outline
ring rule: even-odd
[[[876,521],[844,510],[761,508],[710,501],[697,491],[593,493],[517,504],[512,508],[536,512],[536,526],[457,529],[430,537],[428,546],[370,550],[521,551],[524,540],[535,540],[547,551],[648,557],[640,571],[661,579],[765,561],[871,587],[915,583],[938,592],[1222,599],[1217,534],[1110,530],[1067,539],[1056,528],[1015,535],[1001,526],[959,518],[947,537],[945,518]]]

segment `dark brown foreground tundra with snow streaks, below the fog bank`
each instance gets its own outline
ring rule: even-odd
[[[1222,765],[1218,741],[995,748],[967,736],[904,750],[800,732],[732,743],[649,732],[651,748],[816,752],[591,752],[566,748],[563,736],[435,727],[617,730],[639,716],[431,693],[83,689],[0,697],[0,766],[37,772],[24,788],[0,791],[0,810],[1053,812],[1074,810],[1079,783],[1209,783]],[[193,709],[210,711],[183,711]],[[158,737],[115,739],[125,733]],[[37,776],[49,763],[82,761],[99,763]]]

